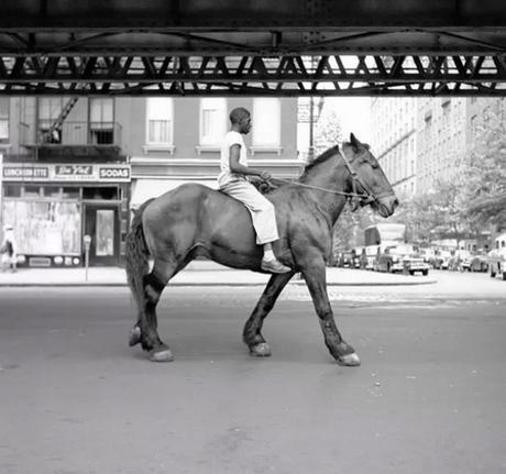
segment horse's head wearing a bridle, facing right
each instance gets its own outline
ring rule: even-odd
[[[350,169],[353,192],[363,195],[359,205],[370,205],[384,218],[392,216],[399,201],[369,145],[351,133],[350,143],[342,145],[342,154]]]

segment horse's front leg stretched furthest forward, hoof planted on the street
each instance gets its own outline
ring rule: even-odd
[[[329,295],[327,294],[327,275],[323,258],[308,262],[302,268],[302,275],[311,294],[321,330],[323,331],[324,343],[330,353],[340,365],[360,365],[360,359],[355,350],[344,342],[336,326]]]

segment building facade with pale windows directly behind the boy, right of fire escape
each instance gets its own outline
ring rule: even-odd
[[[277,177],[293,178],[300,172],[296,99],[134,98],[130,107],[132,208],[188,180],[216,188],[221,140],[235,107],[252,112],[252,131],[244,139],[249,164]]]

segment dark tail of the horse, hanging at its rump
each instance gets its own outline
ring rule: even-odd
[[[153,199],[144,202],[133,217],[130,232],[125,240],[125,269],[127,280],[132,295],[135,299],[139,310],[142,308],[144,299],[143,279],[150,272],[150,251],[142,229],[142,213]]]

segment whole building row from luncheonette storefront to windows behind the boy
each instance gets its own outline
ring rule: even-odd
[[[20,264],[117,265],[131,210],[182,183],[216,187],[233,107],[253,113],[250,163],[294,177],[296,99],[0,99],[1,223]]]

